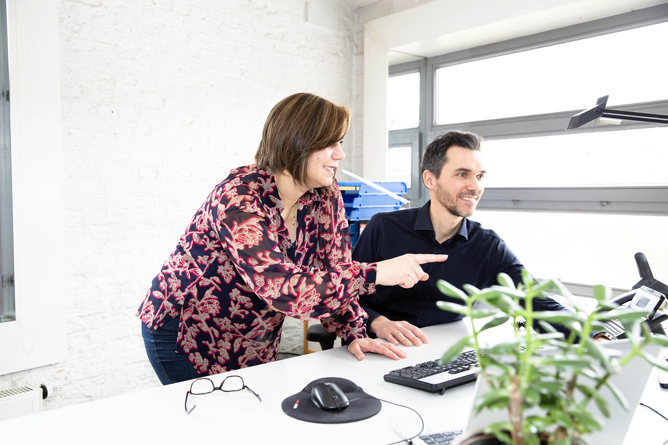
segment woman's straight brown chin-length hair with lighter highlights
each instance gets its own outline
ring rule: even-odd
[[[269,113],[255,163],[275,173],[287,171],[296,182],[306,184],[311,153],[343,139],[349,125],[346,105],[311,93],[289,95]]]

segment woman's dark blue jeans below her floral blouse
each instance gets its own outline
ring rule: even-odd
[[[201,377],[186,354],[176,354],[178,317],[152,331],[142,322],[142,337],[146,355],[163,385]]]

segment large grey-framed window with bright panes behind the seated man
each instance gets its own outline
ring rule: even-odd
[[[534,275],[631,288],[636,252],[668,280],[668,125],[565,129],[604,95],[612,109],[668,114],[665,41],[666,3],[394,65],[389,75],[426,63],[424,119],[411,130],[418,161],[445,131],[484,137],[486,190],[473,219]],[[389,132],[390,147],[407,146],[401,131]]]

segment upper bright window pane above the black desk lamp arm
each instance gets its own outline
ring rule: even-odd
[[[436,70],[436,124],[668,99],[668,23]],[[475,86],[472,86],[475,85]]]

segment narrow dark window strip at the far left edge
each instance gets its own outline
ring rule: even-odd
[[[9,139],[9,63],[7,63],[7,5],[0,2],[0,323],[16,320],[14,254],[11,224],[11,144]]]

